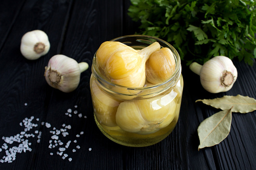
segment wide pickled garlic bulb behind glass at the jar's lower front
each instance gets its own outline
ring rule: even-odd
[[[120,103],[116,113],[117,125],[127,131],[138,134],[150,134],[166,127],[176,114],[175,97],[172,91],[159,98],[124,101]]]

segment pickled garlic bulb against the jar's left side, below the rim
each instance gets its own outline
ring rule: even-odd
[[[102,92],[93,79],[94,78],[91,77],[91,95],[95,117],[100,124],[108,127],[117,126],[116,112],[120,102]]]

